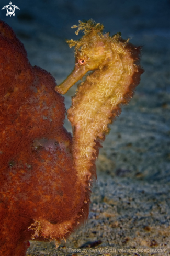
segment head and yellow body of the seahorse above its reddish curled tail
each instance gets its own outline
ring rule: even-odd
[[[65,94],[93,71],[78,86],[67,112],[73,127],[74,167],[84,190],[90,190],[100,142],[109,133],[109,124],[120,115],[121,104],[128,104],[140,82],[141,47],[133,46],[129,39],[123,40],[120,33],[112,37],[103,34],[104,26],[93,20],[79,21],[72,28],[78,28],[76,35],[81,30],[85,35],[78,41],[67,40],[70,48],[75,47],[75,68],[55,90]]]

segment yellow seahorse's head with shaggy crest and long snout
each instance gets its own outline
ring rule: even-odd
[[[70,48],[75,47],[75,68],[67,79],[55,87],[55,90],[65,94],[69,88],[80,80],[88,71],[101,69],[106,64],[107,53],[111,46],[112,38],[109,34],[102,33],[104,26],[95,23],[93,20],[79,21],[79,25],[72,28],[78,28],[75,32],[82,30],[84,36],[80,40],[67,40]]]

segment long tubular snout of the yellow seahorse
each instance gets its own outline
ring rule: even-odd
[[[60,94],[65,94],[78,80],[80,80],[89,69],[87,66],[76,64],[73,72],[59,86],[55,86],[55,91]]]

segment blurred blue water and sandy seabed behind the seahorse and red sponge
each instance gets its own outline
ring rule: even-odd
[[[9,0],[1,1],[1,9]],[[78,20],[103,23],[105,32],[143,46],[145,69],[134,97],[114,124],[97,160],[89,220],[62,242],[31,241],[27,255],[148,255],[170,253],[170,1],[16,0],[15,17],[0,18],[24,43],[28,59],[50,72],[60,84],[74,68],[74,52],[66,39],[75,39]],[[76,86],[65,95],[66,108]],[[72,131],[65,121],[65,127]],[[70,251],[81,249],[81,252]],[[88,253],[83,251],[88,249]],[[104,251],[89,251],[104,249]],[[115,248],[117,252],[105,250]],[[119,249],[132,249],[119,252]],[[166,249],[166,252],[158,252]],[[136,250],[136,251],[135,251]],[[157,250],[157,251],[156,251]],[[153,254],[152,254],[153,253]]]

